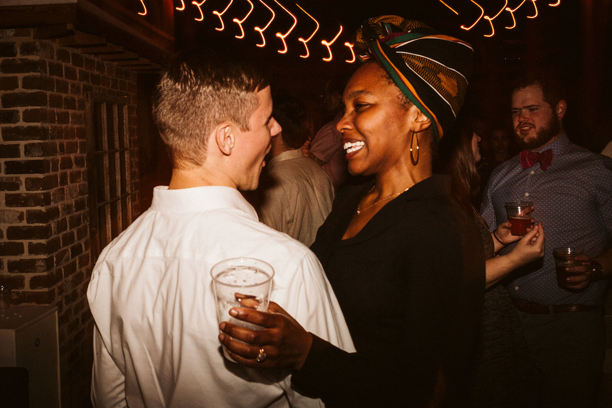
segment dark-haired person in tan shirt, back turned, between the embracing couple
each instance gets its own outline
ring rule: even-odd
[[[259,213],[266,225],[310,246],[332,210],[334,186],[321,166],[302,152],[308,139],[304,106],[289,97],[274,101],[274,118],[283,129],[272,136]]]

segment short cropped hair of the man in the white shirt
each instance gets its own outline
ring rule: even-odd
[[[206,159],[208,136],[223,122],[248,130],[256,92],[269,85],[251,64],[212,51],[179,55],[157,85],[153,117],[173,168],[193,168]]]

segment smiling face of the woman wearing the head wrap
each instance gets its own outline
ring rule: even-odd
[[[344,93],[345,114],[337,124],[351,174],[378,174],[409,154],[413,108],[375,62],[362,65]],[[418,111],[418,109],[416,109]]]

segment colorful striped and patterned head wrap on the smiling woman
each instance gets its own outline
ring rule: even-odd
[[[409,100],[427,116],[436,141],[463,105],[472,71],[472,46],[416,20],[370,18],[357,30],[355,50],[374,57]]]

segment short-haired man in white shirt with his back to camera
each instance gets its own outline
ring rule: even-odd
[[[248,257],[274,267],[271,300],[307,330],[354,350],[318,259],[259,223],[238,191],[257,187],[271,135],[281,130],[267,81],[220,56],[185,54],[158,91],[154,118],[172,177],[92,273],[94,407],[321,405],[294,391],[288,372],[226,360],[217,338],[211,268]]]

